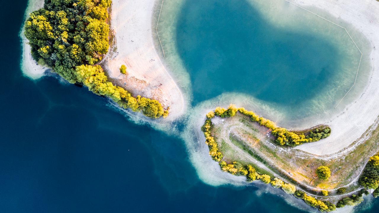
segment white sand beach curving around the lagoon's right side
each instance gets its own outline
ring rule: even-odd
[[[359,139],[376,122],[379,115],[379,2],[376,0],[290,0],[296,5],[312,11],[317,7],[327,11],[362,32],[371,43],[371,75],[363,94],[348,105],[341,114],[327,118],[326,124],[332,128],[332,134],[321,141],[297,147],[315,155],[331,155],[348,147]],[[373,128],[371,128],[373,130]],[[363,142],[364,140],[360,140]]]

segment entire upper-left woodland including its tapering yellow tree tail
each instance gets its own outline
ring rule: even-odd
[[[108,51],[108,7],[111,0],[45,0],[30,13],[25,36],[34,60],[49,66],[70,83],[83,83],[95,94],[111,98],[123,108],[146,116],[166,117],[157,100],[132,97],[108,81],[99,62]]]

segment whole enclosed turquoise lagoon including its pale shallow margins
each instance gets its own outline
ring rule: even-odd
[[[359,32],[332,21],[365,52]],[[340,113],[368,82],[364,54],[356,86],[335,108],[354,83],[361,53],[345,29],[284,0],[166,1],[158,31],[167,66],[189,88],[193,105],[232,93],[223,104],[244,97],[253,103],[244,107],[299,128],[306,118]]]

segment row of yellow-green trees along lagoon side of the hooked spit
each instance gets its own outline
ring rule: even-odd
[[[214,112],[211,111],[207,114],[207,118],[211,119],[213,116],[232,117],[237,111],[250,117],[251,121],[258,122],[258,124],[271,129],[271,133],[276,137],[275,142],[281,146],[298,146],[300,144],[318,141],[330,135],[329,127],[322,128],[321,130],[315,128],[305,133],[290,132],[286,128],[277,127],[273,121],[259,117],[253,111],[247,111],[244,108],[236,108],[233,104],[229,105],[227,109],[217,107]]]

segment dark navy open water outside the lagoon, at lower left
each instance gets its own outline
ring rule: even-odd
[[[303,212],[254,186],[205,185],[183,141],[129,122],[85,88],[23,77],[26,5],[2,3],[0,212]]]

